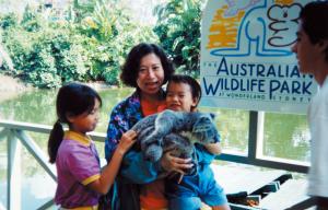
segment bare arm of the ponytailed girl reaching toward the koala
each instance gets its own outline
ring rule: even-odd
[[[119,166],[125,153],[131,148],[136,142],[137,133],[133,130],[128,130],[125,132],[117,145],[110,162],[103,170],[101,177],[92,182],[89,187],[99,194],[107,194],[112,187],[115,177],[119,171]]]

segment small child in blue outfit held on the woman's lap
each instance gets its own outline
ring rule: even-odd
[[[197,105],[201,97],[201,89],[198,82],[188,75],[173,75],[167,84],[166,106],[177,112],[197,112]],[[215,154],[221,153],[220,136],[218,142],[204,147],[197,144],[198,150],[206,150],[213,154],[211,159],[198,156],[196,175],[185,175],[181,180],[167,178],[165,191],[168,198],[169,209],[200,209],[201,201],[215,210],[230,210],[223,188],[220,187],[210,168],[210,163]]]

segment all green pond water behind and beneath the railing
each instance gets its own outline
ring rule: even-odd
[[[101,109],[101,120],[95,131],[106,132],[109,113],[112,108],[124,97],[132,93],[131,89],[110,89],[99,91],[103,98],[103,107]],[[56,120],[55,100],[56,90],[37,90],[25,92],[16,95],[11,100],[1,102],[0,93],[0,118],[17,121],[27,121],[42,125],[52,125]],[[215,120],[221,133],[223,150],[233,150],[239,153],[247,153],[248,145],[248,121],[247,110],[221,109],[200,107],[200,110],[212,112],[216,115]],[[33,133],[28,135],[36,143],[46,152],[47,135]],[[265,155],[283,158],[297,161],[309,160],[309,136],[305,115],[286,115],[267,113],[265,118],[263,133]],[[102,143],[97,143],[99,155],[104,156]],[[7,145],[5,141],[0,141],[0,202],[5,203],[7,196],[2,194],[7,190],[7,168],[3,168],[3,160],[5,159]],[[24,209],[35,209],[38,203],[44,203],[54,197],[56,184],[49,180],[49,176],[38,166],[35,160],[23,149],[22,171],[24,182],[22,182],[22,207]],[[7,161],[5,161],[7,162]],[[37,187],[42,183],[43,189],[46,191],[37,191],[33,187]],[[49,185],[49,186],[46,186]],[[46,188],[47,187],[47,188]],[[39,189],[42,190],[42,189]],[[37,191],[37,195],[35,195]],[[39,196],[42,195],[42,196]],[[34,205],[28,206],[28,200],[34,198]],[[31,205],[31,203],[30,203]],[[1,209],[1,206],[0,206]]]

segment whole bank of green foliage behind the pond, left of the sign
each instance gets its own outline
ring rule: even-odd
[[[27,5],[22,21],[11,13],[0,18],[0,26],[13,75],[38,88],[73,80],[117,85],[130,48],[157,38],[178,71],[197,77],[200,8],[201,0],[169,0],[157,5],[159,22],[151,28],[131,21],[118,0],[74,0],[63,16]]]

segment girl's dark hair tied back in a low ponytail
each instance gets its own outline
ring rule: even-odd
[[[102,105],[102,98],[97,92],[83,84],[69,83],[59,89],[56,101],[58,120],[55,122],[48,140],[50,163],[56,162],[57,151],[63,138],[61,124],[70,126],[68,116],[79,116],[83,113],[92,112],[95,100],[98,100]]]

